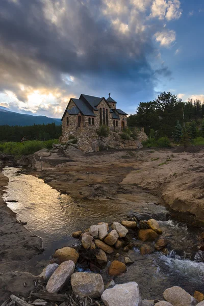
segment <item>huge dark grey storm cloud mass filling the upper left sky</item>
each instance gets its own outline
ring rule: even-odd
[[[152,93],[157,75],[169,77],[170,71],[154,71],[148,63],[155,53],[151,30],[130,28],[124,35],[103,9],[103,0],[1,0],[0,91],[11,90],[22,101],[27,91],[19,84],[92,94],[142,87]],[[77,82],[64,82],[66,74]]]

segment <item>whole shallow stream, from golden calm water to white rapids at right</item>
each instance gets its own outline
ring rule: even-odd
[[[126,219],[127,213],[134,211],[134,204],[125,205],[114,200],[73,200],[43,180],[33,175],[19,174],[18,170],[4,168],[4,175],[9,178],[4,200],[17,214],[17,219],[28,222],[25,227],[42,238],[45,251],[32,259],[30,265],[35,266],[42,260],[48,261],[56,248],[75,243],[76,240],[71,237],[72,232],[102,221],[121,221]],[[161,213],[166,211],[153,203],[149,203],[148,208],[142,208],[143,212],[149,210]],[[202,292],[204,256],[203,252],[197,251],[197,235],[200,230],[172,220],[162,219],[159,223],[163,236],[170,241],[171,251],[168,256],[161,252],[141,256],[139,249],[134,248],[128,256],[135,263],[127,267],[125,274],[116,277],[115,282],[137,282],[141,296],[145,299],[161,299],[164,290],[172,286],[181,286],[190,294],[195,290]]]

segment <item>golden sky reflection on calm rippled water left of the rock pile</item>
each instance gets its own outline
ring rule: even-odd
[[[73,201],[43,180],[32,175],[16,174],[16,171],[16,168],[4,169],[9,178],[8,193],[4,194],[4,199],[8,207],[18,214],[18,220],[28,222],[25,227],[42,237],[45,245],[91,224],[121,220],[133,208],[123,201]]]

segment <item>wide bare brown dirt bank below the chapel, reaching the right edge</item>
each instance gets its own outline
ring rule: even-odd
[[[35,175],[41,175],[39,156],[35,159]],[[151,193],[159,195],[161,203],[172,209],[176,218],[204,224],[203,149],[193,154],[146,149],[84,155],[72,148],[64,155],[51,154],[42,160],[42,178],[62,193],[75,198],[120,199],[125,203],[144,202]]]

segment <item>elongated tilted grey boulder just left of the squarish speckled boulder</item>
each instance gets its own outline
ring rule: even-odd
[[[75,265],[72,260],[63,262],[49,278],[46,286],[47,292],[58,293],[58,291],[68,282],[74,269]]]

